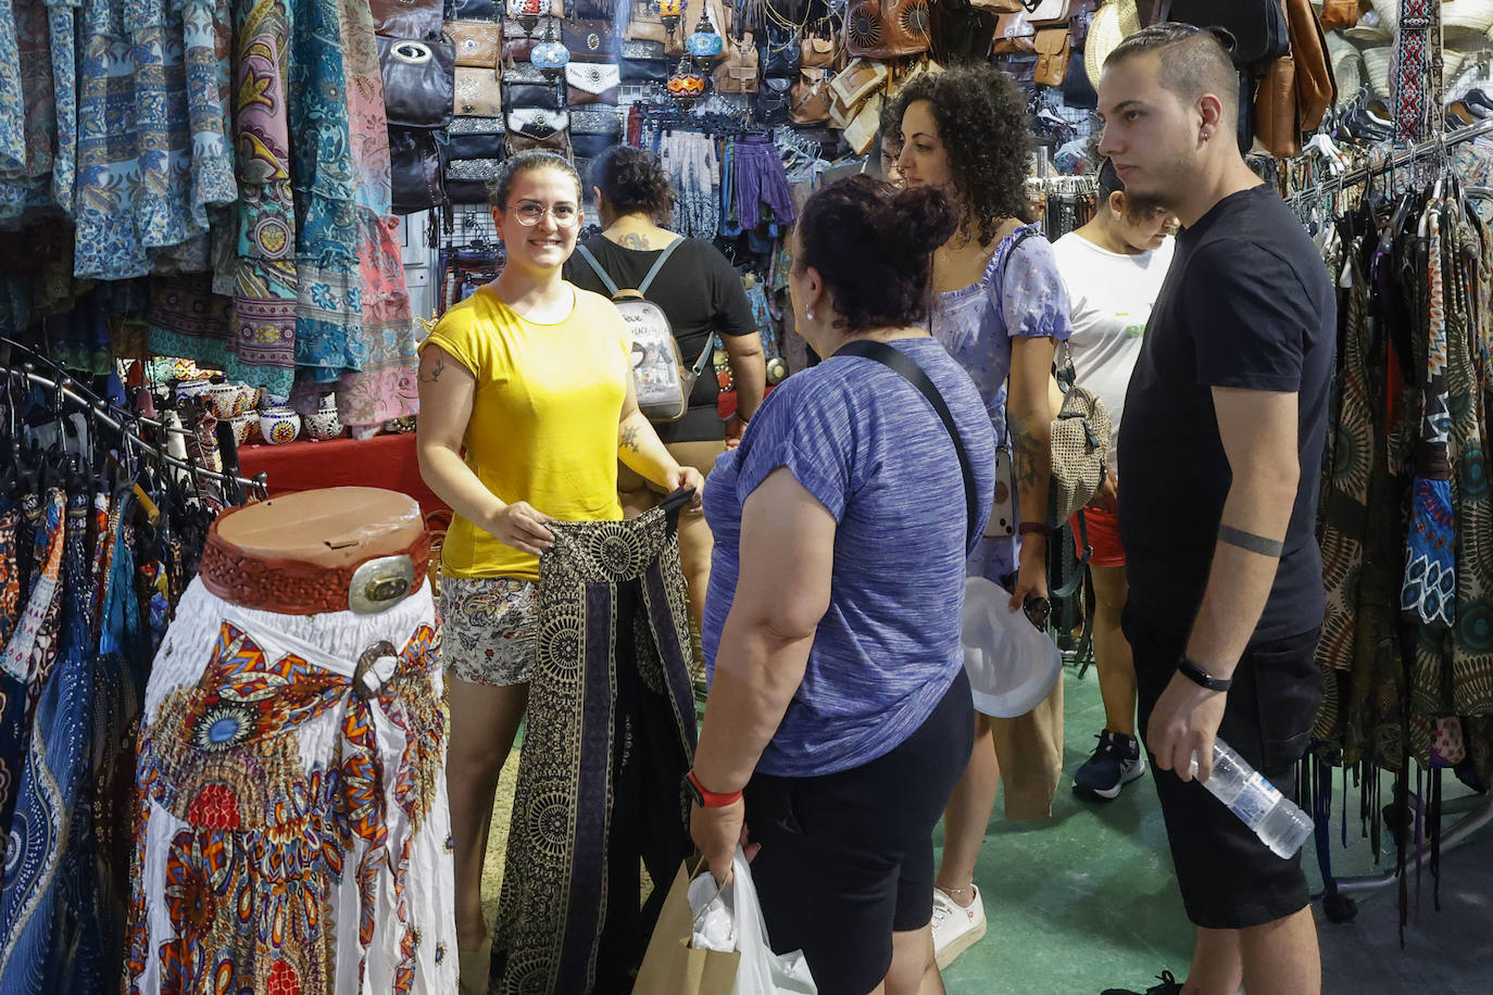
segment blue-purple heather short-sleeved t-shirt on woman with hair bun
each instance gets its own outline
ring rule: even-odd
[[[994,431],[969,374],[933,339],[891,343],[938,386],[990,516]],[[715,534],[705,604],[711,674],[741,570],[742,504],[787,467],[838,522],[830,606],[809,664],[757,770],[781,777],[867,764],[923,725],[964,664],[964,482],[954,443],[900,373],[832,357],[784,380],[757,409],[739,449],[705,485]]]

